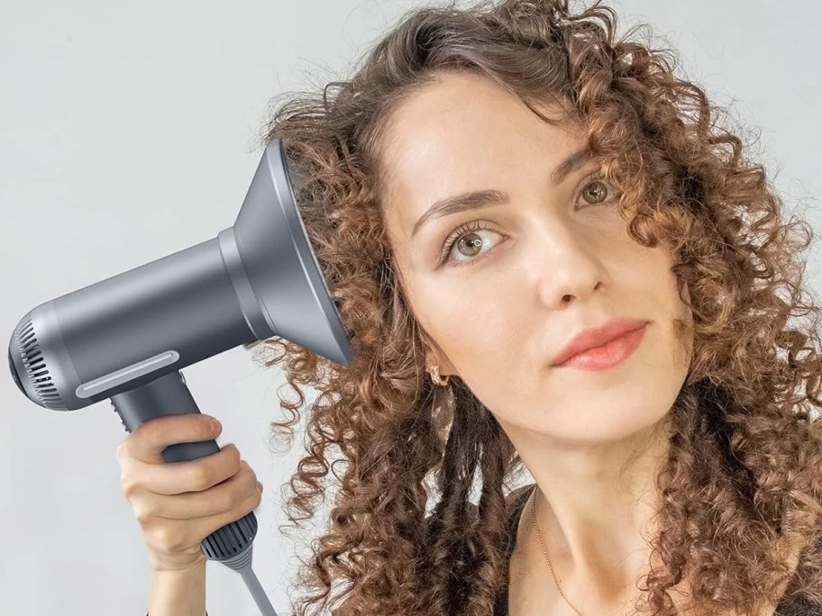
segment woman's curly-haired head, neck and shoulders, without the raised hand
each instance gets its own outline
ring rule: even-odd
[[[298,394],[272,428],[319,392],[289,508],[339,481],[298,614],[822,614],[806,227],[615,32],[601,4],[423,8],[273,114],[354,358],[252,345]]]

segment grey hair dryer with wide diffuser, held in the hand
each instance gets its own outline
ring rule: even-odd
[[[342,366],[352,349],[297,209],[281,140],[260,159],[233,227],[167,257],[32,308],[9,341],[14,382],[33,403],[74,411],[111,400],[132,432],[161,415],[200,412],[180,369],[281,336]],[[163,450],[168,462],[219,451],[215,440]],[[251,571],[254,512],[215,530],[205,557],[242,575],[265,616],[276,612]]]

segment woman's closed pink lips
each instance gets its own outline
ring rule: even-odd
[[[647,324],[636,319],[615,319],[602,327],[582,331],[551,365],[589,370],[616,366],[639,346]]]

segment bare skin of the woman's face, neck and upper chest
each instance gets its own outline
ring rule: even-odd
[[[627,613],[651,556],[653,481],[668,440],[660,421],[690,364],[690,343],[683,349],[674,335],[674,321],[692,317],[671,255],[628,237],[606,181],[582,182],[596,161],[553,186],[551,172],[585,135],[543,122],[484,77],[449,74],[426,86],[393,113],[386,137],[387,232],[408,301],[437,347],[426,366],[459,376],[514,443],[539,486],[537,523],[569,601],[584,614]],[[511,201],[427,222],[412,237],[434,201],[479,189]],[[487,227],[461,232],[479,250],[456,244],[449,256],[460,262],[438,265],[466,222]],[[650,322],[630,358],[599,372],[550,367],[576,333],[625,316]],[[511,560],[510,613],[573,614],[530,507]]]

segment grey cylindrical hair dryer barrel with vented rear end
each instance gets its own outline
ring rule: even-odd
[[[12,340],[25,369],[42,372],[40,380],[23,379],[33,390],[26,394],[70,411],[274,335],[261,318],[252,331],[221,239],[233,241],[221,233],[34,308]]]

